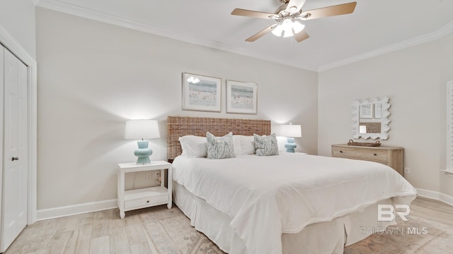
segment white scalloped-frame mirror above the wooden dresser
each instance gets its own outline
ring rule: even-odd
[[[389,97],[352,102],[352,138],[389,138]]]

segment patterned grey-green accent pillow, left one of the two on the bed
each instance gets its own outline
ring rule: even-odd
[[[233,133],[228,133],[223,137],[216,137],[212,133],[206,133],[207,139],[207,159],[226,159],[234,158]]]

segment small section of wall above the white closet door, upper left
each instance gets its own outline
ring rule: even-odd
[[[0,25],[32,56],[35,47],[35,4],[33,0],[1,0]]]

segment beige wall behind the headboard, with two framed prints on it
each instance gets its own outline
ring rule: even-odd
[[[126,119],[158,119],[151,159],[166,159],[166,116],[302,124],[316,154],[318,75],[37,8],[38,210],[116,198],[116,164],[132,162]],[[222,113],[181,110],[181,73],[222,78]],[[224,80],[258,83],[258,114],[226,114]]]

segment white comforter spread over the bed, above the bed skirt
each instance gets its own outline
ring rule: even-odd
[[[173,181],[231,216],[231,228],[249,253],[281,253],[282,233],[297,233],[415,188],[375,162],[282,153],[231,159],[176,157]]]

